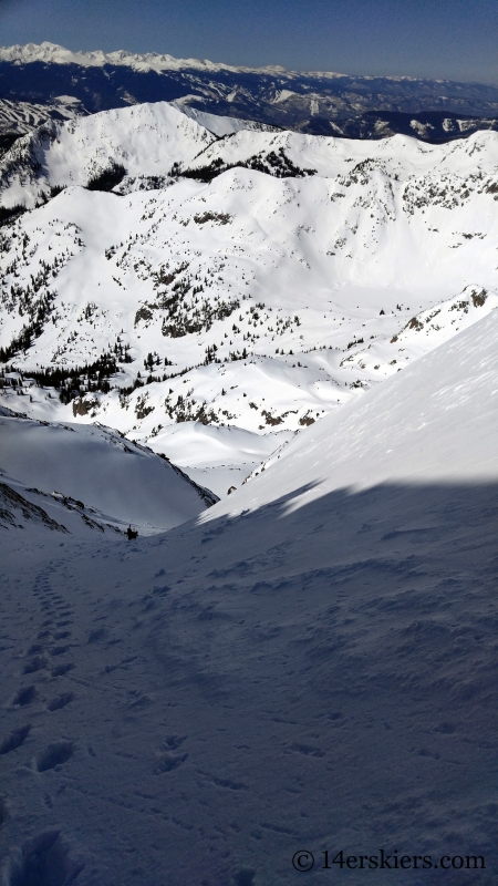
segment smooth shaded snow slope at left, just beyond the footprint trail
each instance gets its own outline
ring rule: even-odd
[[[0,437],[2,484],[76,535],[128,524],[146,534],[169,529],[216,501],[151,450],[100,425],[37,422],[3,409]],[[19,526],[2,516],[3,529]]]

